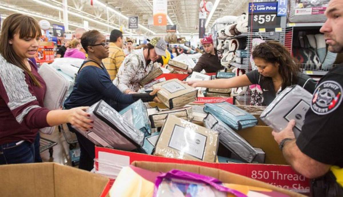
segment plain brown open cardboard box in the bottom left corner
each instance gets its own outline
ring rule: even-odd
[[[109,179],[57,163],[0,165],[0,196],[106,196]]]

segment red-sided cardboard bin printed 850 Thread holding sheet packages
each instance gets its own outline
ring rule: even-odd
[[[261,148],[265,152],[265,164],[238,164],[238,163],[208,163],[201,161],[179,160],[161,156],[146,155],[127,151],[119,151],[96,147],[95,157],[105,160],[125,163],[127,166],[134,161],[169,162],[192,164],[222,169],[249,178],[260,180],[271,185],[290,189],[301,193],[309,192],[309,180],[295,172],[286,161],[275,142],[272,129],[267,126],[255,126],[238,131],[253,147]],[[219,153],[218,153],[219,155]],[[96,163],[96,165],[98,165]]]

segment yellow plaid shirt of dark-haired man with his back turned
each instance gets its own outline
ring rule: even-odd
[[[118,69],[125,59],[125,54],[122,48],[119,48],[115,43],[109,43],[109,56],[103,59],[103,63],[111,77],[111,80],[116,78]]]

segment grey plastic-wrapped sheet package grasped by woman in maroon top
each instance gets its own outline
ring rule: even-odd
[[[93,129],[78,131],[96,145],[124,151],[143,145],[144,133],[134,128],[105,101],[98,101],[87,109],[87,113],[94,121]]]

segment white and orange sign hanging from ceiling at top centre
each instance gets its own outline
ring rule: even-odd
[[[167,25],[167,0],[153,0],[154,25]]]

